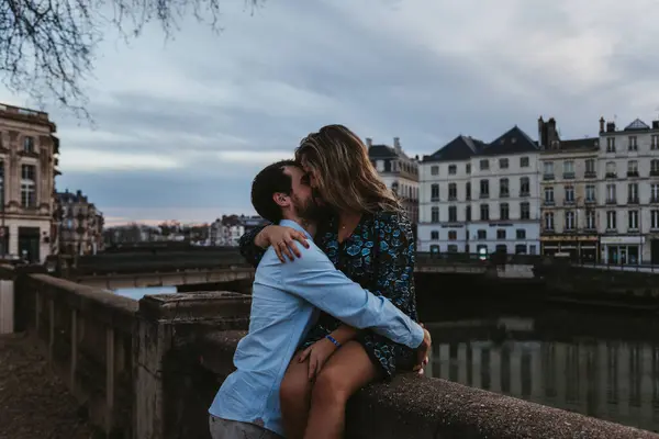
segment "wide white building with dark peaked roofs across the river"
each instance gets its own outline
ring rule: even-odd
[[[489,144],[458,136],[425,156],[418,250],[538,254],[538,154],[515,126]]]

